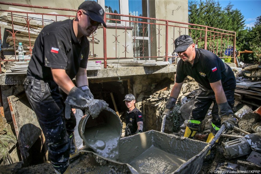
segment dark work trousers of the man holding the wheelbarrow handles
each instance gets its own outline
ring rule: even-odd
[[[234,101],[235,89],[226,90],[224,92],[229,106],[231,107],[231,109],[233,109],[235,104]],[[218,114],[218,106],[215,98],[215,93],[213,90],[206,89],[201,85],[199,85],[198,92],[195,96],[194,104],[192,106],[191,116],[189,117],[189,119],[202,121],[205,118],[206,113],[213,102],[214,105],[211,112],[212,113],[211,121],[214,125],[220,128],[221,119]]]

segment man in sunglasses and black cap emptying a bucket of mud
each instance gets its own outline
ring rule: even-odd
[[[105,101],[94,99],[86,72],[87,36],[102,25],[106,27],[102,7],[85,1],[73,20],[45,26],[33,48],[25,93],[44,133],[56,173],[70,173],[69,157],[75,153],[76,120],[71,107],[87,109],[96,118],[108,106]]]

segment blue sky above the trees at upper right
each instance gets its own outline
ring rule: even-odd
[[[195,0],[188,0],[195,1]],[[197,0],[199,1],[199,0]],[[261,0],[219,0],[222,8],[231,2],[233,9],[239,9],[245,19],[246,27],[252,27],[255,24],[256,17],[261,16]]]

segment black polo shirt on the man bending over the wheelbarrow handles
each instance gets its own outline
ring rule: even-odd
[[[183,60],[178,62],[176,83],[182,83],[187,76],[190,76],[207,89],[211,89],[210,83],[219,80],[224,90],[236,88],[236,78],[226,63],[210,51],[198,48],[195,50],[193,65]]]

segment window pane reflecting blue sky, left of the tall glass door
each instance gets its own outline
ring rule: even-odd
[[[105,2],[105,12],[106,13],[116,13],[120,14],[120,4],[119,0],[104,0]],[[120,16],[115,15],[106,15],[107,18],[110,19],[120,19]],[[106,20],[108,23],[117,23],[120,24],[120,21],[114,21],[114,20]]]

